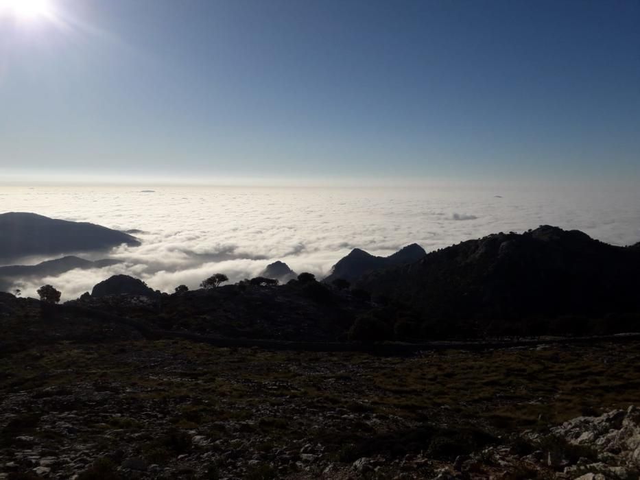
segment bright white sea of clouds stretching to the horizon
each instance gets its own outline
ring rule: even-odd
[[[616,245],[640,241],[633,188],[569,184],[438,184],[376,188],[0,187],[0,213],[33,212],[134,233],[142,245],[80,254],[123,263],[23,281],[27,296],[50,283],[77,298],[113,274],[154,289],[196,288],[216,272],[231,282],[272,261],[318,278],[353,248],[388,255],[409,243],[443,248],[493,232],[541,224],[579,229]],[[1,235],[1,232],[0,232]],[[71,252],[70,252],[71,253]],[[37,263],[45,259],[29,259]]]

